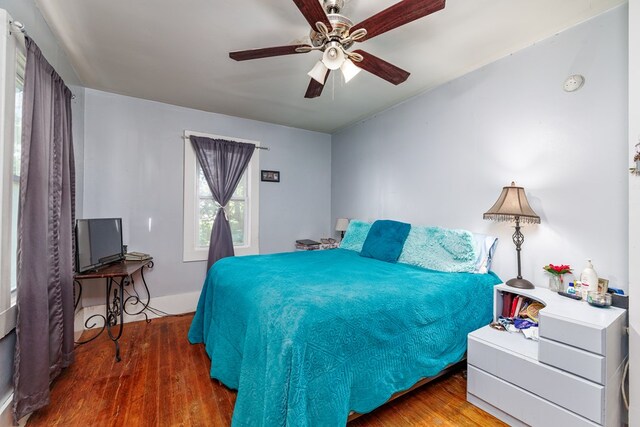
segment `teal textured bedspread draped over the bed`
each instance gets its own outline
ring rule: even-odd
[[[237,389],[234,426],[338,426],[459,361],[491,320],[493,273],[441,273],[334,249],[225,258],[189,341]]]

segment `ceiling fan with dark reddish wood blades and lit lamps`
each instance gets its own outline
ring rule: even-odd
[[[369,40],[444,9],[445,4],[445,0],[403,0],[353,25],[349,18],[340,14],[344,0],[322,0],[324,7],[319,0],[293,0],[293,2],[311,25],[309,35],[311,44],[240,50],[230,52],[229,57],[236,61],[246,61],[314,50],[323,52],[322,60],[318,61],[308,73],[311,81],[305,98],[320,96],[329,73],[338,68],[347,82],[358,74],[360,69],[395,85],[407,80],[409,72],[363,50],[349,51],[349,49],[355,42]]]

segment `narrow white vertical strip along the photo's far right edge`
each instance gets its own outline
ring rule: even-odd
[[[640,75],[640,4],[629,2],[629,76]],[[629,150],[628,161],[640,142],[640,84],[629,79]],[[633,119],[631,119],[633,118]],[[629,163],[631,165],[631,163]],[[633,165],[635,166],[635,165]],[[631,408],[629,425],[640,425],[640,176],[629,176],[629,360],[636,362],[629,371]]]

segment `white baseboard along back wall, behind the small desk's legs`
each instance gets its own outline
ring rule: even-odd
[[[165,312],[167,314],[184,314],[196,311],[196,307],[198,306],[198,298],[200,297],[200,292],[189,292],[186,294],[178,294],[178,295],[166,295],[162,297],[151,298],[151,302],[149,306],[154,308],[155,310],[159,310],[161,312]],[[130,311],[136,311],[136,306],[132,306]],[[93,305],[90,307],[82,308],[76,317],[76,334],[86,329],[87,326],[91,326],[91,323],[87,324],[87,320],[96,314],[101,314],[104,316],[105,313],[105,304],[101,305]],[[158,317],[164,316],[162,313],[155,313],[153,311],[147,310],[145,311],[149,319],[155,319]],[[127,313],[124,314],[123,320],[124,323],[137,322],[139,320],[145,320],[145,316],[143,314],[138,315],[129,315]],[[97,322],[98,326],[101,326],[100,321]],[[77,338],[76,338],[77,339]]]

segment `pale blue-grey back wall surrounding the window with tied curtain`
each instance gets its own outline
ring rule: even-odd
[[[281,182],[260,184],[261,253],[330,233],[330,135],[87,89],[84,216],[123,218],[129,250],[155,258],[152,296],[200,291],[205,276],[204,262],[182,261],[185,129],[270,147],[260,168],[279,170]]]

